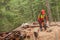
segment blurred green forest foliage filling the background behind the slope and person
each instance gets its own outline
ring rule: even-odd
[[[60,8],[60,2],[49,1],[52,17],[57,20],[56,7]],[[46,10],[45,0],[0,0],[0,32],[11,31],[25,22],[37,21],[41,9]]]

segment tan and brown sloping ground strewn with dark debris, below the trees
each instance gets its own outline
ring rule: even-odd
[[[40,31],[38,22],[23,23],[11,32],[0,33],[2,39],[21,40],[60,40],[60,22],[51,22],[47,30]]]

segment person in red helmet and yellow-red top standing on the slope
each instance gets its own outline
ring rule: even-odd
[[[48,18],[47,18],[47,15],[45,13],[45,10],[42,9],[41,10],[41,13],[38,15],[38,22],[39,22],[39,25],[40,25],[40,30],[42,31],[44,28],[45,30],[47,29],[47,21],[48,21]]]

